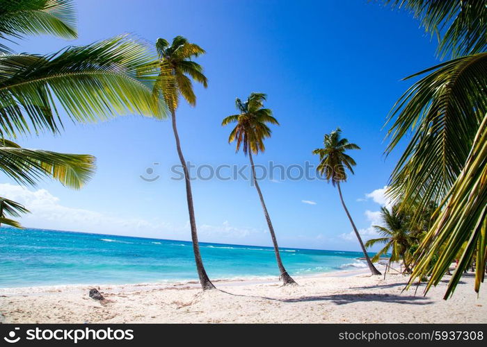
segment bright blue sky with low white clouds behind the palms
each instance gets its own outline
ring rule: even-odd
[[[49,53],[121,33],[150,43],[187,37],[207,51],[198,62],[209,87],[195,87],[196,108],[182,105],[177,112],[186,160],[247,164],[227,144],[230,128],[222,128],[221,119],[236,113],[235,97],[265,92],[280,126],[273,127],[255,162],[316,162],[312,149],[340,126],[344,137],[362,147],[351,153],[358,165],[342,186],[344,198],[364,237],[373,236],[370,226],[378,222],[382,201],[377,189],[387,184],[399,155],[383,155],[385,117],[410,85],[401,78],[437,62],[436,44],[413,17],[362,0],[83,0],[77,8],[79,39],[29,37],[13,48]],[[25,226],[189,239],[184,182],[170,180],[170,167],[178,164],[170,121],[136,115],[95,125],[65,121],[61,136],[18,142],[97,157],[97,174],[80,191],[50,181],[26,191],[1,176],[0,193],[33,212],[22,219]],[[154,167],[152,176],[147,167]],[[160,178],[148,183],[143,174]],[[331,185],[263,180],[261,187],[280,246],[360,249]],[[247,181],[196,180],[193,195],[201,241],[271,244],[257,193]]]

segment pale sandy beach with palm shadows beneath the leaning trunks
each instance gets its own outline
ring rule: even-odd
[[[468,273],[449,301],[449,276],[424,297],[401,292],[401,275],[367,271],[277,280],[218,281],[205,291],[195,283],[100,286],[106,302],[88,297],[93,286],[0,289],[4,323],[487,323],[487,288],[479,298]]]

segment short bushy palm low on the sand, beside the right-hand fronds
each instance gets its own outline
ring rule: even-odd
[[[404,272],[410,273],[406,252],[413,244],[413,237],[408,229],[408,215],[403,210],[399,210],[398,205],[394,205],[392,206],[392,211],[387,208],[381,208],[381,218],[385,226],[374,226],[374,229],[382,237],[369,239],[369,241],[365,242],[366,248],[372,247],[374,244],[385,244],[381,251],[374,255],[372,262],[378,261],[381,255],[389,253],[390,249],[392,249],[389,262],[402,260],[406,268]]]

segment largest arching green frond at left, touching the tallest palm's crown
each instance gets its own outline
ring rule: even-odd
[[[145,46],[127,36],[72,46],[50,56],[0,55],[0,135],[62,126],[55,101],[76,121],[136,113],[163,117],[152,97]]]

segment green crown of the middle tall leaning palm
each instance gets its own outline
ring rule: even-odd
[[[240,147],[245,155],[248,149],[254,154],[265,151],[264,139],[271,137],[271,129],[266,123],[279,125],[272,115],[272,110],[264,108],[266,97],[264,93],[252,93],[245,102],[239,98],[235,99],[235,106],[240,113],[225,117],[221,122],[222,126],[237,123],[228,137],[229,143],[237,142],[237,152]]]

